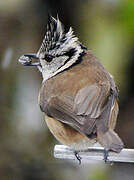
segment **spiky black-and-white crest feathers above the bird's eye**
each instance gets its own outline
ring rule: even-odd
[[[51,57],[62,56],[72,51],[82,52],[78,38],[73,34],[72,28],[70,27],[66,33],[59,18],[49,17],[47,31],[37,57],[45,59],[47,56],[49,60],[48,57],[51,59]]]

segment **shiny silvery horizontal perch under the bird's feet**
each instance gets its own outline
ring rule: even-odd
[[[104,156],[104,148],[102,147],[89,147],[88,150],[80,151],[80,157],[83,162],[102,161]],[[68,146],[56,145],[54,147],[54,157],[59,159],[76,160],[74,151]],[[134,163],[134,149],[123,149],[120,153],[109,151],[108,156],[111,162],[120,163]]]

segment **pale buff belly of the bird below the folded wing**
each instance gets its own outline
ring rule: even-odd
[[[96,139],[89,139],[70,126],[50,118],[46,114],[45,120],[48,128],[56,139],[74,150],[84,150],[96,143]]]

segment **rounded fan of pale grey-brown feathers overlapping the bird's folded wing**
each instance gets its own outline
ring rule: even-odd
[[[109,93],[109,86],[84,87],[81,89],[74,100],[74,112],[77,115],[90,115],[91,118],[99,117],[103,110],[103,105]]]

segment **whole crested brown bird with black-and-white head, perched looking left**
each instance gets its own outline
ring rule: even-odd
[[[123,149],[114,131],[119,111],[114,78],[72,27],[65,30],[58,17],[49,16],[38,52],[22,55],[19,62],[41,72],[38,102],[46,124],[60,143],[74,150],[79,163],[79,152],[96,142],[104,147],[105,162],[109,151]]]

